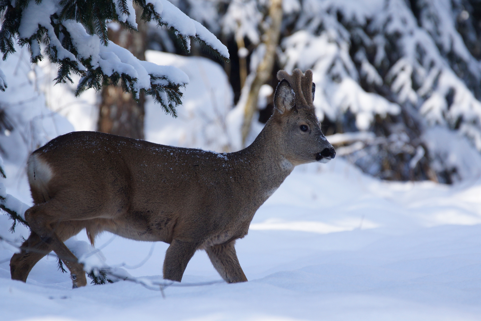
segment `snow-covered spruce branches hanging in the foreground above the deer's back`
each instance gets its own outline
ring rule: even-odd
[[[227,48],[169,1],[134,2],[142,9],[142,20],[170,28],[186,51],[190,51],[190,40],[194,40],[228,60]],[[143,91],[152,95],[165,112],[176,115],[175,108],[182,98],[180,87],[189,82],[189,77],[172,66],[140,61],[107,38],[108,22],[137,30],[132,0],[0,0],[0,14],[3,14],[0,30],[3,60],[15,52],[14,40],[18,39],[20,46],[29,48],[32,63],[46,55],[59,65],[56,83],[72,82],[72,73],[81,76],[76,95],[122,80],[123,89],[132,92],[136,99]],[[6,87],[3,76],[0,73],[0,90]]]

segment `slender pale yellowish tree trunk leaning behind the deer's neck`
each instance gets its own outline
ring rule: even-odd
[[[264,44],[266,45],[266,53],[264,58],[257,66],[255,78],[252,82],[249,96],[244,108],[244,122],[242,125],[242,145],[245,146],[247,136],[251,131],[251,123],[254,112],[257,110],[257,99],[259,90],[264,85],[272,73],[274,59],[276,56],[276,48],[279,42],[280,25],[282,23],[282,0],[270,0],[269,6],[270,26],[266,32]]]

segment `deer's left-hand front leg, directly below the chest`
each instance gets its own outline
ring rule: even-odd
[[[186,242],[174,239],[165,252],[164,279],[178,281],[182,280],[187,263],[194,255],[198,243]]]

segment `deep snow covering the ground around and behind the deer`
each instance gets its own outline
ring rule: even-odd
[[[221,135],[232,100],[222,69],[203,58],[177,57],[169,64],[190,70],[186,90],[195,94],[186,93],[176,120],[148,103],[146,137],[223,148],[228,140],[212,140]],[[47,95],[47,101],[54,100]],[[88,118],[78,113],[65,114],[77,129]],[[168,135],[166,127],[177,131]],[[7,192],[29,203],[23,167],[6,161],[5,170]],[[42,259],[26,284],[12,281],[13,252],[0,243],[0,321],[480,320],[481,178],[472,176],[446,186],[383,182],[339,158],[297,167],[237,242],[249,282],[170,286],[165,297],[126,281],[71,289],[54,257]],[[1,236],[18,241],[28,235],[22,226],[9,233],[10,225],[0,215]],[[77,238],[87,241],[84,232]],[[96,246],[108,265],[137,265],[128,269],[131,275],[162,280],[167,244],[104,233]],[[181,285],[220,280],[207,255],[197,252]]]

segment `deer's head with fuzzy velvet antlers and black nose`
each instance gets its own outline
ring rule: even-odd
[[[321,131],[313,104],[316,85],[312,71],[305,74],[294,69],[292,75],[284,70],[274,95],[273,123],[279,126],[282,154],[293,165],[311,162],[327,163],[336,152]]]

